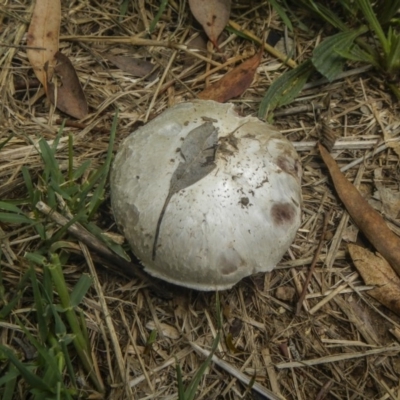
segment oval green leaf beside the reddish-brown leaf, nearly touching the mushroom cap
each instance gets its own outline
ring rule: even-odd
[[[295,99],[313,71],[311,60],[307,60],[276,79],[260,103],[258,117],[265,119],[267,113]]]

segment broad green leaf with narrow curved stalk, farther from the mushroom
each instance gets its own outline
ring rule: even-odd
[[[325,39],[314,49],[311,58],[314,67],[330,82],[343,71],[346,60],[338,54],[339,51],[349,51],[354,40],[368,29],[360,27],[354,31],[337,33]]]

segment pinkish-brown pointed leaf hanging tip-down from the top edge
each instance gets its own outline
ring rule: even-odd
[[[231,0],[189,0],[189,6],[208,38],[218,48],[218,36],[229,21]]]

